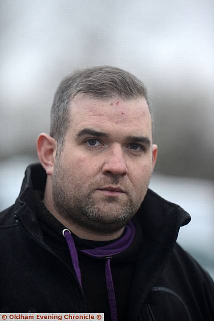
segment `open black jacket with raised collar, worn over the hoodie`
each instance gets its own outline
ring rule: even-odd
[[[41,165],[28,166],[16,203],[0,213],[0,312],[87,312],[72,269],[45,243],[35,215],[32,190],[45,181]],[[176,243],[189,214],[148,190],[136,216],[143,243],[127,320],[214,320],[213,281]]]

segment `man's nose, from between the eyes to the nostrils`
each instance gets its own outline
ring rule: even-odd
[[[102,174],[113,176],[125,176],[128,168],[125,160],[124,152],[121,146],[114,146],[105,154],[105,161],[102,167]]]

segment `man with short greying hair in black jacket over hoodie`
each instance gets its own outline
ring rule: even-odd
[[[148,189],[152,119],[126,71],[88,68],[61,82],[40,164],[0,215],[1,312],[214,318],[211,278],[176,244],[189,214]]]

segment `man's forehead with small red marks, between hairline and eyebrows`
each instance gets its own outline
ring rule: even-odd
[[[124,101],[119,97],[102,100],[77,95],[70,106],[70,130],[76,133],[86,127],[121,135],[152,135],[151,116],[143,97]]]

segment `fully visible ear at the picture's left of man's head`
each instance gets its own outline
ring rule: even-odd
[[[53,175],[57,143],[48,134],[42,133],[37,139],[38,158],[47,175]]]

